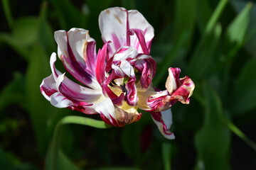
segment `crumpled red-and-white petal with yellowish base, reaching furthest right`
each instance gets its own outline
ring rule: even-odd
[[[170,108],[176,101],[188,104],[195,84],[189,77],[179,78],[180,72],[179,68],[169,68],[165,91],[155,91],[152,87],[139,91],[139,108],[159,112]]]

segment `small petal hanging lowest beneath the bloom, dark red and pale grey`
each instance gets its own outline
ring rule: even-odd
[[[174,133],[170,132],[172,124],[171,109],[161,112],[151,112],[151,118],[154,120],[154,123],[156,123],[159,131],[164,135],[164,137],[169,140],[173,140],[175,138]]]

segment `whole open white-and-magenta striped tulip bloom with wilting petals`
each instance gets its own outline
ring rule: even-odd
[[[166,90],[153,86],[156,62],[150,49],[154,28],[139,11],[108,8],[100,13],[99,24],[104,45],[98,52],[88,30],[55,32],[58,58],[79,84],[55,68],[53,52],[52,74],[43,79],[41,93],[57,108],[100,114],[105,123],[116,127],[139,120],[142,113],[138,108],[149,111],[161,134],[174,139],[169,130],[170,107],[176,101],[189,103],[193,81],[189,77],[179,78],[179,68],[169,68]]]

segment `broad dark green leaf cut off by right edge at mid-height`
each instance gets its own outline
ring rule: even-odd
[[[252,58],[242,68],[230,97],[230,108],[233,115],[242,115],[256,107],[256,58]]]

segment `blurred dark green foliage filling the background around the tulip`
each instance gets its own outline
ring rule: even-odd
[[[181,67],[196,89],[190,105],[172,108],[176,140],[147,113],[124,128],[66,125],[59,169],[256,169],[256,6],[240,0],[1,0],[0,169],[46,168],[55,125],[82,114],[39,91],[54,30],[85,28],[101,47],[97,18],[111,6],[135,8],[154,27],[155,86]]]

